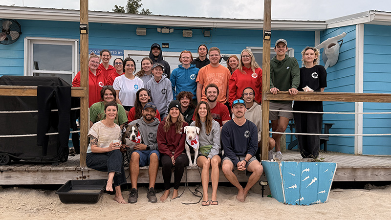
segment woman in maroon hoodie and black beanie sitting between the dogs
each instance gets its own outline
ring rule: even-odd
[[[164,180],[164,193],[160,201],[165,201],[170,195],[171,170],[174,168],[174,192],[172,199],[178,197],[180,180],[185,167],[189,165],[189,159],[185,150],[186,135],[183,128],[188,124],[180,113],[180,103],[174,100],[170,103],[167,117],[160,122],[157,129],[157,144],[160,152],[162,175]]]

